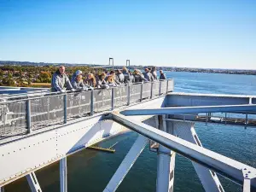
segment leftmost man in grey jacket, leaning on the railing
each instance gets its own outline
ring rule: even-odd
[[[52,76],[51,91],[65,92],[66,90],[73,91],[74,89],[65,73],[65,67],[61,66]]]

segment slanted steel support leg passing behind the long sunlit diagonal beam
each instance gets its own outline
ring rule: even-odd
[[[169,121],[169,124],[173,124],[174,135],[186,140],[190,143],[194,143],[200,147],[202,144],[195,132],[194,123],[188,122],[175,122]],[[215,172],[210,171],[207,167],[201,166],[198,163],[192,161],[193,166],[195,167],[195,172],[201,180],[203,188],[207,192],[221,192],[224,191],[221,183],[218,180],[218,176]]]

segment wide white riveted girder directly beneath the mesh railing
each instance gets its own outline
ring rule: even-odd
[[[160,97],[128,108],[158,108],[163,101],[164,97]],[[151,117],[145,115],[134,119],[143,121]],[[106,116],[100,113],[69,121],[66,125],[53,125],[34,130],[29,135],[3,139],[0,145],[0,186],[122,131],[127,129],[112,119],[106,119]],[[25,160],[31,156],[33,158]],[[20,163],[23,159],[25,161]]]

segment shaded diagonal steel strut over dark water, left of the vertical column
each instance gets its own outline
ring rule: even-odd
[[[130,171],[131,166],[133,166],[138,156],[143,152],[143,149],[147,143],[147,137],[143,137],[141,135],[137,137],[137,140],[132,145],[128,154],[126,154],[125,159],[122,161],[117,171],[113,174],[113,177],[110,179],[107,187],[103,190],[103,192],[113,192],[119,187],[119,184]]]

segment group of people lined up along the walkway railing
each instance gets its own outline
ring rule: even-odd
[[[156,73],[156,67],[145,68],[145,72],[135,69],[133,73],[126,67],[122,70],[106,71],[100,75],[89,73],[86,79],[83,79],[82,71],[78,70],[73,73],[72,79],[69,80],[65,73],[65,67],[61,66],[53,74],[51,79],[51,90],[65,92],[66,90],[93,90],[108,89],[109,87],[119,86],[121,84],[133,84],[142,82],[154,82],[157,79],[166,79],[166,75],[160,70],[160,78]]]

